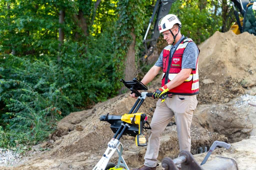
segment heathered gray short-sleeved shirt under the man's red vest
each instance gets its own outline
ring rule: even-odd
[[[184,38],[184,35],[182,35],[182,38],[179,39],[179,41],[172,45],[171,47],[171,53],[174,53],[175,48],[179,45],[180,41]],[[182,68],[192,68],[193,70],[196,69],[196,61],[197,56],[199,54],[199,50],[194,42],[189,42],[187,47],[185,48],[185,51],[182,55]],[[163,67],[163,51],[161,52],[158,60],[155,63],[155,66]]]

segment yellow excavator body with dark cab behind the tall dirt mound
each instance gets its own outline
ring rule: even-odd
[[[235,34],[249,32],[250,34],[256,35],[256,1],[231,0],[231,2],[236,23],[231,26],[230,30]],[[237,9],[241,14],[240,18]]]

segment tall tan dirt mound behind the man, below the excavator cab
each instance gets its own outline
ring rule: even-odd
[[[217,31],[199,45],[200,104],[226,103],[256,86],[255,46],[256,36],[232,31]]]

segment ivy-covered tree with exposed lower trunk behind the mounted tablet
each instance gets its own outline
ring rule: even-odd
[[[124,75],[125,80],[136,76],[136,59],[142,45],[142,31],[144,26],[146,1],[118,2],[118,20],[115,24],[113,44],[115,45],[114,59],[116,72]]]

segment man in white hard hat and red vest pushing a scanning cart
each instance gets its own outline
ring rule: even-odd
[[[176,15],[168,14],[159,21],[159,32],[168,46],[141,81],[143,84],[151,82],[163,69],[162,88],[153,93],[153,97],[159,100],[150,124],[152,129],[149,131],[145,163],[138,168],[140,170],[156,169],[162,132],[172,116],[176,118],[180,151],[190,151],[190,125],[197,106],[196,94],[199,93],[199,49],[180,33],[180,28],[181,22]],[[161,98],[163,95],[167,98]],[[135,98],[135,94],[130,96]]]

